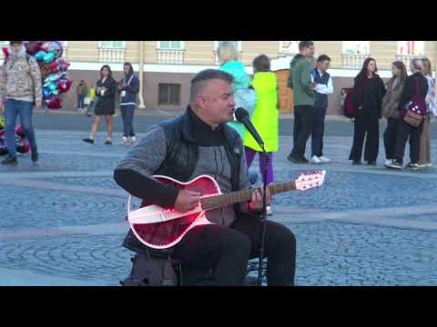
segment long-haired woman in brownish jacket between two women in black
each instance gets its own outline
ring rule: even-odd
[[[387,118],[387,128],[384,132],[385,147],[385,164],[392,163],[394,156],[394,146],[396,143],[396,134],[401,120],[398,106],[401,99],[403,85],[407,79],[407,69],[401,61],[395,61],[391,64],[393,76],[385,84],[387,93],[382,98],[382,116]]]

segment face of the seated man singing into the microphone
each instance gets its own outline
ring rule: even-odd
[[[224,124],[234,119],[232,84],[215,79],[208,81],[198,95],[198,106],[211,124]]]

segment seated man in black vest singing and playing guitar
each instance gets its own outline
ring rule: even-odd
[[[160,183],[154,175],[180,182],[208,175],[222,193],[249,189],[242,141],[226,124],[233,120],[234,106],[230,74],[214,69],[198,73],[191,81],[185,113],[151,128],[117,165],[116,182],[146,203],[179,213],[196,208],[202,194]],[[213,223],[189,230],[172,246],[172,255],[182,264],[213,269],[218,285],[244,285],[248,261],[259,255],[261,221],[254,213],[262,208],[261,190],[253,192],[249,202],[205,213]],[[124,244],[134,251],[145,247],[132,231]],[[296,240],[290,229],[268,221],[264,254],[268,284],[293,285]]]

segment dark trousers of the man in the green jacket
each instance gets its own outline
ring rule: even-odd
[[[312,133],[314,124],[314,106],[296,105],[294,107],[293,150],[291,156],[302,158]]]

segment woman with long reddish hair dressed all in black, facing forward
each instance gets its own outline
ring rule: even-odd
[[[385,86],[377,74],[376,61],[367,58],[353,85],[353,104],[357,108],[354,119],[353,145],[349,160],[361,164],[362,146],[366,137],[364,160],[376,165],[380,147],[379,120],[381,119],[381,100]]]

